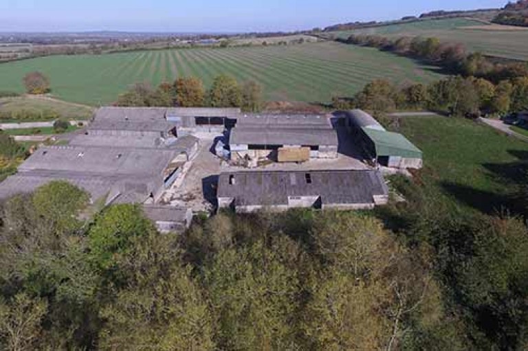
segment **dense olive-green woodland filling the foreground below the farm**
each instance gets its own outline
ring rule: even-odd
[[[223,212],[181,235],[158,234],[136,205],[90,205],[61,181],[15,196],[0,212],[0,345],[525,349],[522,219],[392,181],[407,203]]]

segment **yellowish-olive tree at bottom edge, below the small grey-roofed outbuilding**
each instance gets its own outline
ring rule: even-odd
[[[209,304],[181,263],[177,236],[135,237],[115,269],[120,284],[109,286],[113,299],[102,307],[101,348],[216,349]]]

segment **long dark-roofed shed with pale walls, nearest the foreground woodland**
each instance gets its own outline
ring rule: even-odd
[[[377,170],[245,171],[219,176],[218,205],[236,212],[292,207],[355,210],[388,201]]]

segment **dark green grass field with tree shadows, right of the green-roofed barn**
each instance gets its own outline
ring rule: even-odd
[[[527,181],[528,143],[448,117],[404,117],[398,131],[423,151],[419,179],[432,197],[443,194],[487,213],[514,208],[512,199]]]

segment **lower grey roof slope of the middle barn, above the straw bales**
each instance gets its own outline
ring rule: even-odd
[[[230,144],[337,146],[338,135],[331,128],[258,128],[236,126]]]

